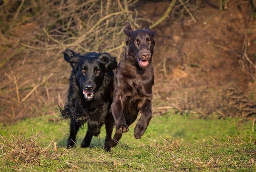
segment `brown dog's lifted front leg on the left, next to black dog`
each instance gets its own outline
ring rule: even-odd
[[[128,132],[128,125],[126,124],[126,120],[122,111],[122,102],[121,95],[114,94],[113,103],[111,105],[112,115],[115,120],[116,125],[116,133],[121,134],[124,132]]]

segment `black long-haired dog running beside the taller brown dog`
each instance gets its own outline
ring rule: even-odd
[[[67,147],[73,147],[78,129],[88,121],[88,130],[82,147],[90,145],[92,136],[100,134],[109,113],[111,98],[110,84],[117,66],[116,58],[109,53],[86,53],[80,55],[70,49],[64,52],[72,72],[68,90],[68,103],[60,108],[61,116],[70,119],[70,135]]]

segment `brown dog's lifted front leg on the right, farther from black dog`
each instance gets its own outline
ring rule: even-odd
[[[142,105],[140,108],[141,117],[134,129],[134,137],[136,139],[141,138],[141,136],[144,134],[145,130],[148,127],[148,123],[150,119],[152,118],[152,105],[151,105],[151,99],[144,99],[142,100]]]

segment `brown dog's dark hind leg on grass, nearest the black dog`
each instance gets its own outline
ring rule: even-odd
[[[114,129],[114,118],[112,116],[112,113],[108,113],[106,119],[105,119],[105,128],[106,128],[106,138],[105,138],[105,144],[104,144],[104,150],[110,151],[111,150],[111,142],[112,142],[112,132]]]

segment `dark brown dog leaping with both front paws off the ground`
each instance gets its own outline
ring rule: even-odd
[[[152,86],[154,72],[152,55],[155,32],[149,27],[145,30],[132,31],[129,23],[124,26],[128,36],[124,57],[121,59],[114,76],[114,97],[111,105],[112,115],[106,118],[105,149],[116,146],[122,133],[130,126],[141,112],[141,117],[134,129],[134,137],[139,139],[152,118]],[[114,117],[114,119],[113,119]],[[115,121],[116,134],[111,134]]]

